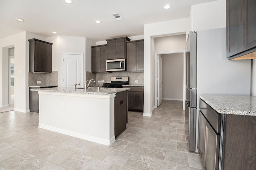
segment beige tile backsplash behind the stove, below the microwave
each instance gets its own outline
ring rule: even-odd
[[[130,85],[143,85],[144,84],[144,72],[108,72],[108,73],[92,73],[86,72],[86,80],[94,79],[96,83],[93,84],[103,84],[110,83],[110,77],[114,76],[128,76]],[[100,80],[100,82],[98,82]],[[102,82],[104,80],[104,82]],[[138,82],[135,82],[137,80]]]

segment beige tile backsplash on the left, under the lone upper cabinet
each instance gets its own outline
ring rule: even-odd
[[[41,84],[37,84],[41,81]],[[49,73],[28,73],[28,85],[29,86],[58,86],[58,71]]]

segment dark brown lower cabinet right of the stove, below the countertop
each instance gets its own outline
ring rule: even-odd
[[[128,90],[128,110],[143,111],[144,106],[144,88],[143,87],[129,87]]]

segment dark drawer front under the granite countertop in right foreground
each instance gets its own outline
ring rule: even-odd
[[[220,119],[221,116],[212,107],[206,104],[202,99],[200,99],[200,110],[202,111],[206,120],[214,128],[217,133],[220,133]]]

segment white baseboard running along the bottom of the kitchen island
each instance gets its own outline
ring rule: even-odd
[[[100,143],[102,145],[110,146],[110,145],[112,145],[112,143],[114,143],[116,141],[115,136],[113,136],[110,140],[107,140],[107,139],[102,139],[102,138],[99,138],[99,137],[93,137],[93,136],[90,136],[90,135],[85,135],[85,134],[82,134],[82,133],[68,131],[68,130],[65,130],[65,129],[58,128],[58,127],[52,127],[52,126],[49,126],[49,125],[44,125],[42,123],[39,123],[38,127],[42,128],[42,129],[49,130],[49,131],[62,133],[64,135],[69,135],[69,136],[72,136],[72,137],[77,137],[77,138],[80,138],[80,139],[84,139],[86,141]]]

